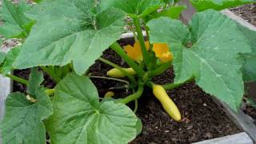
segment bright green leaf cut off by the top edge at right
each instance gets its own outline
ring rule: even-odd
[[[254,0],[190,0],[191,4],[198,11],[214,9],[223,10],[226,8],[240,6],[255,2]]]

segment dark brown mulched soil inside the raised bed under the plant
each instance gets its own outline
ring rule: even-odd
[[[112,50],[106,50],[102,56],[115,62],[120,66],[126,66],[126,63],[118,57]],[[102,62],[95,62],[91,66],[90,73],[97,76],[106,76],[106,71],[111,67]],[[17,75],[22,75],[27,78],[28,70],[18,70]],[[53,82],[49,82],[49,77],[46,76],[50,87]],[[172,82],[174,74],[172,70],[167,70],[165,74],[154,78],[154,82],[164,84]],[[97,86],[100,96],[103,96],[106,91],[113,90],[116,95],[128,95],[129,90],[118,89],[123,86],[122,82],[114,82],[110,80],[91,78],[95,86]],[[26,87],[14,83],[14,90],[24,91]],[[182,122],[174,122],[162,110],[162,106],[154,98],[152,90],[146,89],[142,98],[138,101],[137,115],[142,119],[143,130],[142,134],[138,135],[131,144],[148,144],[148,143],[190,143],[199,142],[210,138],[219,138],[229,134],[237,134],[241,132],[226,114],[222,111],[209,94],[204,93],[193,82],[181,86],[175,90],[169,91],[168,94],[178,105],[182,113]],[[134,108],[130,104],[131,109]]]

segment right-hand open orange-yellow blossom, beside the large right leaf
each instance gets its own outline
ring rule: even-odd
[[[169,46],[167,46],[166,43],[154,43],[153,51],[155,56],[159,58],[161,62],[169,62],[173,59],[173,54],[171,54]]]

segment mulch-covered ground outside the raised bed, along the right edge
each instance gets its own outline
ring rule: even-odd
[[[250,22],[252,25],[256,26],[256,4],[239,6],[234,9],[231,9],[231,11],[233,11],[234,14],[237,14],[239,17],[245,19],[247,22]],[[254,84],[251,86],[256,86],[256,85]],[[251,89],[256,89],[256,87],[253,87]],[[255,93],[251,94],[250,97],[252,97],[254,99],[254,101],[256,102],[256,94]],[[244,104],[244,106],[242,106],[242,110],[246,114],[248,114],[251,118],[254,118],[254,123],[256,125],[256,109],[252,106],[249,106],[245,100],[245,104]]]

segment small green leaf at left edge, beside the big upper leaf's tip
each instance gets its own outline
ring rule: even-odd
[[[6,59],[3,62],[2,66],[0,67],[0,73],[1,74],[8,74],[12,70],[14,70],[14,61],[18,57],[18,54],[21,50],[22,46],[16,46],[12,48],[8,53],[6,54]]]

